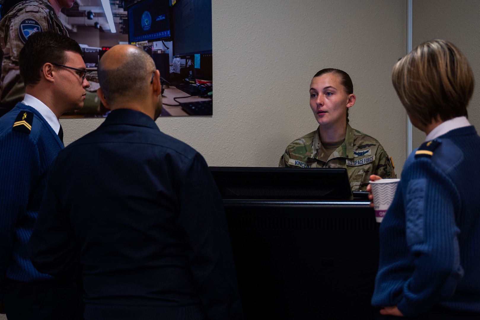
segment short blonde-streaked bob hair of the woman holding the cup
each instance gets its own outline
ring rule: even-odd
[[[426,126],[438,118],[467,116],[475,79],[460,49],[430,40],[395,64],[392,83],[410,117]]]

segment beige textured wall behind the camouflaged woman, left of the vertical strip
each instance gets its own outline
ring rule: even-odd
[[[350,123],[405,161],[406,114],[391,70],[406,51],[406,1],[213,0],[214,115],[160,118],[160,130],[210,166],[277,166],[289,142],[313,131],[312,76],[347,71],[357,102]],[[102,119],[61,119],[65,141]]]

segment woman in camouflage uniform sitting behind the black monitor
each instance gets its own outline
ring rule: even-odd
[[[380,142],[348,124],[348,108],[355,99],[348,73],[318,71],[310,83],[310,107],[319,127],[290,143],[278,166],[347,168],[352,191],[365,191],[372,174],[396,178]]]

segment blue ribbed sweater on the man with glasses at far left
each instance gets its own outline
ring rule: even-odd
[[[33,113],[30,133],[12,130],[24,111]],[[47,185],[48,168],[61,149],[59,136],[36,109],[18,103],[0,118],[0,301],[5,278],[22,282],[52,278],[34,268],[26,243]]]

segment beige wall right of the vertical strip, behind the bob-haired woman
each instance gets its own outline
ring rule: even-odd
[[[476,86],[468,105],[468,120],[480,128],[480,1],[413,1],[413,47],[423,41],[451,41],[467,57],[475,75]],[[413,148],[425,140],[425,133],[414,128]]]

